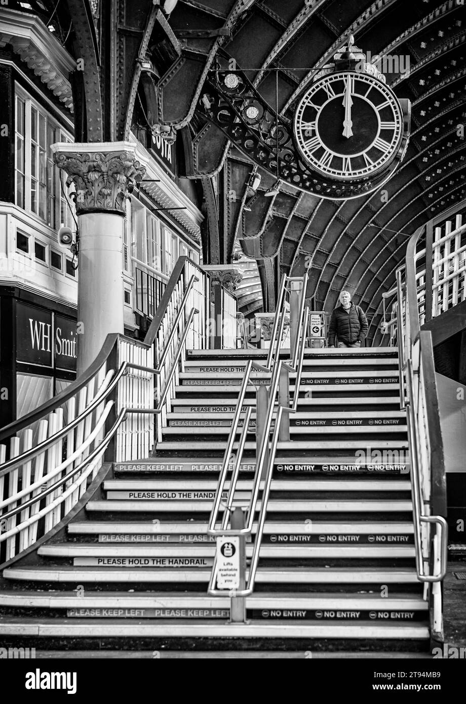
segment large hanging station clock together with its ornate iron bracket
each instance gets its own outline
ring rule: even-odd
[[[350,37],[313,77],[291,120],[270,107],[244,72],[220,63],[206,80],[199,110],[276,184],[332,200],[373,193],[403,159],[410,101],[398,99],[353,44]]]

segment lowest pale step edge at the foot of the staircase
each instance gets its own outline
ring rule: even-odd
[[[341,620],[327,624],[320,620],[251,620],[247,624],[231,624],[208,620],[113,620],[34,617],[0,617],[0,632],[4,636],[41,636],[66,638],[325,638],[325,639],[427,639],[425,623],[375,622],[355,623]]]

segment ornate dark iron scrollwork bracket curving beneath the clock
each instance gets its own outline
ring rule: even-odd
[[[303,163],[291,122],[280,115],[277,118],[241,70],[211,70],[198,109],[256,164],[315,196],[346,200],[369,194],[389,179],[398,163],[377,177],[351,183],[326,180]]]

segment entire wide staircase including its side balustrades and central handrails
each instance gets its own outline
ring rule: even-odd
[[[223,291],[212,349],[208,275],[180,258],[144,342],[109,335],[0,430],[2,646],[427,657],[446,499],[416,271],[398,272],[398,347],[312,348],[305,275],[282,279],[270,350],[236,348]],[[223,591],[220,536],[245,553]]]

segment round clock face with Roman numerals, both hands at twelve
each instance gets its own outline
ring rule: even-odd
[[[325,177],[351,181],[391,163],[403,137],[403,113],[377,78],[333,73],[301,99],[294,134],[308,165]]]

